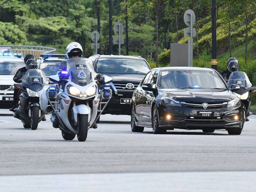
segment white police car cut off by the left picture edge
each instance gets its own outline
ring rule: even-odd
[[[0,53],[0,108],[10,108],[13,102],[13,77],[25,67],[23,53]]]

